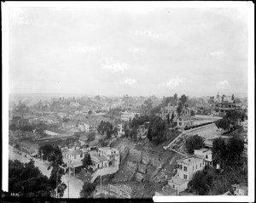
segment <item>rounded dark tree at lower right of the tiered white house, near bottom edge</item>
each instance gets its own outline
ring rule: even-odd
[[[195,191],[196,195],[207,195],[213,183],[211,175],[203,171],[197,171],[194,177],[189,181],[189,188]]]

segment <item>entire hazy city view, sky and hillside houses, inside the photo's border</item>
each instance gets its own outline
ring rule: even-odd
[[[248,196],[247,10],[131,5],[9,7],[3,197]]]

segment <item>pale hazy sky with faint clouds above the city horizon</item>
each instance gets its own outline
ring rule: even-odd
[[[237,8],[10,8],[9,92],[247,93]]]

